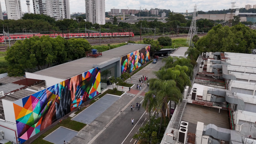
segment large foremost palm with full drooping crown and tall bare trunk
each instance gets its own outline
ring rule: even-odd
[[[156,95],[156,107],[161,108],[162,116],[158,131],[159,136],[164,118],[164,110],[167,108],[167,101],[179,101],[182,98],[182,94],[180,89],[176,86],[176,82],[174,80],[162,80],[157,78],[150,79],[149,89],[154,91],[153,93]]]

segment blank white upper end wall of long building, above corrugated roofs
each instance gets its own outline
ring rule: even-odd
[[[26,78],[45,80],[46,87],[53,86],[53,85],[58,84],[61,81],[65,80],[65,79],[48,77],[48,76],[42,76],[42,75],[37,75],[37,74],[27,73],[27,72],[26,72]]]

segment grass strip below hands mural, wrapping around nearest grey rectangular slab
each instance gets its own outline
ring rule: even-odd
[[[47,130],[45,133],[43,133],[41,136],[39,136],[31,144],[42,144],[42,143],[44,143],[44,144],[53,144],[49,141],[43,140],[43,138],[45,138],[47,135],[49,135],[51,132],[53,132],[54,130],[56,130],[60,126],[65,127],[65,128],[69,128],[69,129],[72,129],[72,130],[75,130],[75,131],[80,131],[83,127],[86,126],[86,124],[71,120],[71,117],[68,117],[67,119],[62,120],[61,124],[59,122],[56,126]]]

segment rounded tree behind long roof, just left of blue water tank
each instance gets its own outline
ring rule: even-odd
[[[85,52],[91,50],[91,45],[84,38],[71,38],[67,44],[68,58],[71,60],[85,57]]]

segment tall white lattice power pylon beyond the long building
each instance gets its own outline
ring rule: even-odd
[[[194,13],[193,13],[191,25],[190,25],[190,28],[189,28],[189,32],[188,32],[187,41],[186,41],[186,44],[188,44],[189,46],[192,44],[193,36],[197,35],[197,30],[196,30],[196,7],[197,7],[197,5],[194,6]]]

